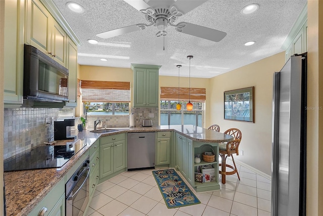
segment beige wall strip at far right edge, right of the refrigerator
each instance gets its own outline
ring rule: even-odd
[[[306,215],[323,215],[323,1],[307,1]]]

